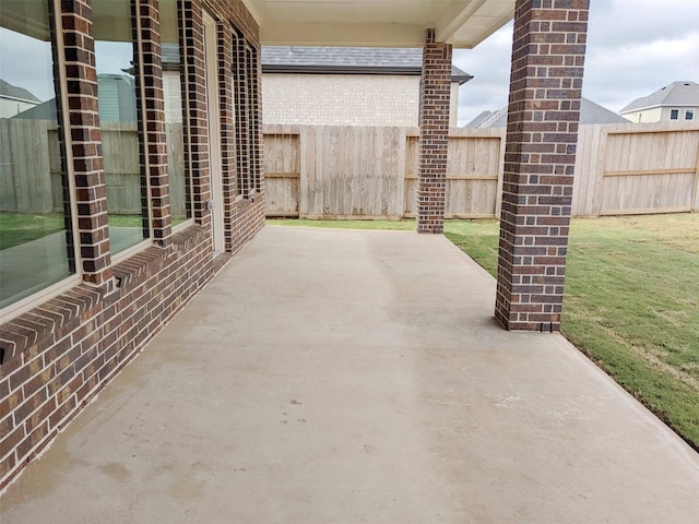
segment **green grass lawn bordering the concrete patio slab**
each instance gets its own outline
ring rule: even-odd
[[[272,224],[414,229],[405,222]],[[495,275],[498,223],[445,235]],[[573,219],[564,334],[699,450],[699,214]]]

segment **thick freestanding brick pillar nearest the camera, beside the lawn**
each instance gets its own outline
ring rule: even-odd
[[[518,0],[495,315],[558,331],[589,0]]]

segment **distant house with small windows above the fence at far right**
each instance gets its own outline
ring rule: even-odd
[[[619,115],[632,122],[690,121],[699,111],[699,84],[673,82],[655,93],[637,98]]]

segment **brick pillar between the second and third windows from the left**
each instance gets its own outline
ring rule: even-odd
[[[134,41],[141,46],[142,63],[134,53],[140,70],[135,75],[140,96],[137,97],[142,128],[141,164],[149,179],[147,198],[153,221],[153,241],[166,247],[170,241],[170,195],[167,174],[167,139],[165,132],[165,100],[163,95],[163,66],[161,62],[161,24],[158,0],[135,0],[131,26]],[[138,13],[138,17],[135,14]]]

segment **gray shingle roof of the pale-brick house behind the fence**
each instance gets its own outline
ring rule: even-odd
[[[364,73],[419,74],[420,48],[395,47],[262,47],[264,73]],[[452,66],[451,80],[467,82],[473,76]]]

